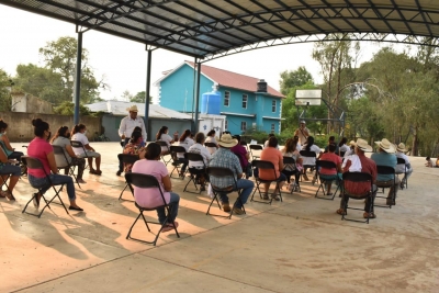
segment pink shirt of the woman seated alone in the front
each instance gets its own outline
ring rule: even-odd
[[[138,160],[133,165],[132,171],[134,173],[150,174],[157,178],[160,184],[161,192],[164,192],[166,203],[169,203],[171,194],[164,189],[164,183],[161,178],[168,176],[168,169],[165,164],[158,160]],[[143,207],[156,207],[164,205],[164,200],[161,199],[160,191],[156,188],[153,189],[142,189],[134,187],[134,199],[136,203]]]

